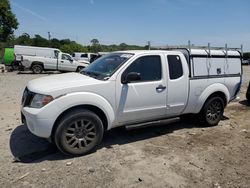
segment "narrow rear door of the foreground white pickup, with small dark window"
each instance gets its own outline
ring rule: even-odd
[[[189,94],[189,70],[182,54],[166,55],[167,60],[167,115],[179,115],[186,107]]]

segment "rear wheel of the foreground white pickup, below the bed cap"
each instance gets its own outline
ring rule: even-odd
[[[201,123],[206,126],[218,125],[223,117],[224,107],[225,105],[221,97],[209,98],[200,112]]]

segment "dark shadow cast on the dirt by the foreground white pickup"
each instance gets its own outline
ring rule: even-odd
[[[140,140],[146,140],[161,135],[166,135],[180,129],[191,129],[197,127],[195,124],[182,122],[155,123],[145,128],[126,130],[125,128],[115,128],[105,133],[100,146],[101,149],[112,148],[113,145],[123,145]],[[39,163],[42,161],[54,161],[70,158],[63,155],[54,144],[46,139],[39,138],[31,134],[28,128],[20,125],[14,129],[10,137],[10,150],[14,156],[13,162]],[[95,151],[94,151],[95,152]]]

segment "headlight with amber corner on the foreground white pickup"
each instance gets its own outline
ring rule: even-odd
[[[31,108],[42,108],[51,101],[53,101],[53,97],[50,95],[35,94],[29,106]]]

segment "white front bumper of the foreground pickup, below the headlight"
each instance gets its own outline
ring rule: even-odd
[[[51,136],[54,119],[40,118],[40,109],[23,107],[21,110],[22,123],[27,125],[31,133],[36,136],[49,138]]]

